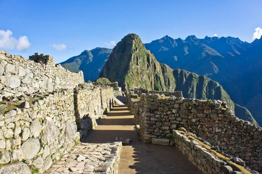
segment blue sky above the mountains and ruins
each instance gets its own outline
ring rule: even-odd
[[[262,34],[262,0],[0,0],[0,49],[56,63],[95,47],[113,48],[128,33],[144,43]]]

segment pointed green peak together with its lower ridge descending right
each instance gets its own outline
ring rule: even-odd
[[[185,70],[172,70],[160,64],[135,34],[125,36],[113,49],[99,77],[117,81],[123,89],[145,87],[154,90],[182,90],[185,97],[220,99],[229,103],[234,111],[234,102],[227,92],[205,76]]]

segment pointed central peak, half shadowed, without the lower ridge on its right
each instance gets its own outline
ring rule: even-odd
[[[127,35],[117,44],[99,77],[117,81],[123,89],[145,87],[166,91],[174,88],[172,70],[159,64],[135,34]]]

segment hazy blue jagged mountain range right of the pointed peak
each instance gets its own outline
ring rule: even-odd
[[[247,43],[234,37],[165,36],[145,47],[160,63],[219,82],[262,125],[262,38]]]

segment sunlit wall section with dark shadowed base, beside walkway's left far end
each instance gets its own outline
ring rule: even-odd
[[[113,98],[113,88],[109,86],[84,83],[75,88],[75,115],[81,137],[87,135],[97,125],[97,119],[111,109]]]

